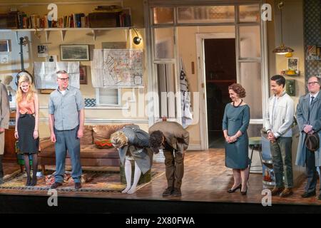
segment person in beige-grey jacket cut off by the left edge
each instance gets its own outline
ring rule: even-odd
[[[2,157],[4,157],[4,130],[9,128],[9,99],[6,86],[0,83],[0,184],[4,182]]]

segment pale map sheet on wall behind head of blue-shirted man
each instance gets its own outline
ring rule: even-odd
[[[79,62],[35,62],[34,81],[36,89],[56,89],[57,71],[67,71],[69,85],[80,88]]]

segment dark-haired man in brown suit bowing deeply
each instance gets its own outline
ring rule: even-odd
[[[168,187],[165,196],[180,197],[180,186],[184,175],[184,155],[188,148],[189,133],[182,125],[175,122],[158,122],[149,128],[149,145],[153,152],[163,149],[165,156],[165,173]]]

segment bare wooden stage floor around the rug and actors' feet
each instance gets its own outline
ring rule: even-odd
[[[240,192],[228,194],[226,191],[233,185],[232,170],[225,167],[223,149],[209,151],[187,152],[185,155],[185,175],[183,177],[182,197],[162,197],[166,187],[165,173],[154,178],[148,185],[142,187],[133,195],[120,192],[58,192],[59,196],[66,197],[98,197],[111,199],[158,199],[196,202],[244,202],[260,204],[263,190],[262,175],[250,174],[248,195]],[[4,164],[5,174],[19,169],[12,163]],[[163,163],[154,163],[153,170],[164,172]],[[288,198],[272,197],[272,204],[320,204],[315,197],[303,199],[305,182],[294,189],[294,195]],[[319,185],[317,185],[319,186]],[[3,195],[46,195],[44,191],[31,190],[0,190]]]

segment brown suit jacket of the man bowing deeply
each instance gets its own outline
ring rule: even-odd
[[[190,133],[185,130],[182,125],[176,122],[162,121],[155,123],[151,128],[149,128],[149,134],[156,130],[160,130],[166,142],[173,147],[178,152],[183,152],[187,150],[188,143],[190,142]]]

